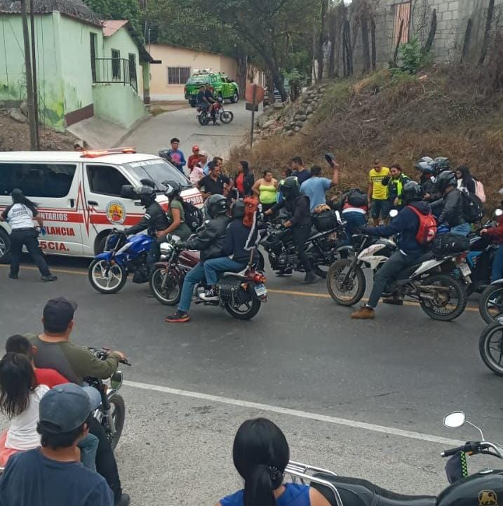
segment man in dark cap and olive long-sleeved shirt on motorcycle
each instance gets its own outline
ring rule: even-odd
[[[76,302],[64,297],[48,300],[43,308],[43,333],[26,334],[36,347],[34,363],[36,367],[51,368],[65,376],[69,381],[81,384],[83,378],[109,378],[126,359],[122,352],[111,352],[106,360],[97,359],[85,347],[69,340],[74,328]],[[122,493],[117,463],[110,441],[102,425],[90,418],[89,429],[100,440],[96,453],[96,470],[105,477],[114,492],[116,505],[127,505],[129,498]]]

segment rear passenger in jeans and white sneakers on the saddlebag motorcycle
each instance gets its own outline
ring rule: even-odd
[[[225,233],[224,247],[222,248],[223,256],[210,258],[204,262],[206,283],[210,288],[201,294],[201,299],[206,300],[206,302],[218,300],[215,293],[215,285],[220,273],[239,272],[250,262],[251,251],[257,237],[255,227],[246,227],[243,224],[245,208],[245,203],[241,199],[236,200],[232,204],[232,222],[227,226]],[[257,257],[257,251],[255,250],[253,260],[256,260]]]

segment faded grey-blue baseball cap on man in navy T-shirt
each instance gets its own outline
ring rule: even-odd
[[[42,397],[39,420],[48,432],[71,432],[80,427],[100,404],[101,395],[95,388],[65,383],[53,387]]]

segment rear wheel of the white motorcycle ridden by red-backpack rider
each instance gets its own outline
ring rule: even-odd
[[[441,288],[431,298],[420,298],[422,310],[434,320],[452,321],[467,307],[467,291],[457,279],[437,274],[425,279],[422,285]]]

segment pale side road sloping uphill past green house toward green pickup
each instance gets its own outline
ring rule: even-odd
[[[190,107],[154,116],[124,142],[135,146],[139,152],[157,154],[159,149],[169,147],[170,138],[177,137],[185,158],[191,154],[194,144],[212,157],[227,157],[231,146],[241,142],[243,135],[248,133],[251,113],[245,110],[244,102],[225,104],[224,107],[234,113],[234,121],[229,125],[201,126],[196,119],[196,109]]]

